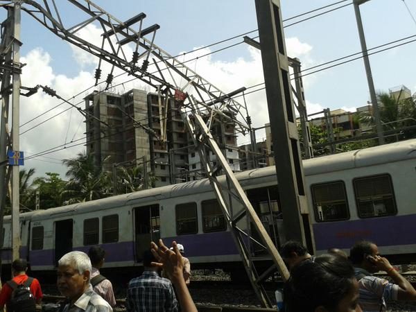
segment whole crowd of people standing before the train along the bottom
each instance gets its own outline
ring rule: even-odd
[[[297,241],[286,242],[280,254],[291,272],[279,306],[282,311],[380,312],[387,310],[388,300],[416,300],[415,288],[370,241],[358,241],[349,257],[338,248],[313,257]],[[100,273],[104,259],[105,250],[94,246],[88,254],[73,251],[58,261],[57,286],[67,301],[55,311],[113,311],[112,283]],[[197,311],[188,290],[191,270],[183,245],[173,242],[168,248],[162,240],[151,243],[143,264],[143,274],[128,284],[126,311]],[[1,288],[0,311],[6,306],[8,312],[33,312],[40,304],[40,283],[26,275],[27,267],[23,259],[12,262],[13,278]],[[393,282],[373,275],[381,270]]]

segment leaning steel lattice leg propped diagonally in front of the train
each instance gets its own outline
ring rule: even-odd
[[[263,227],[259,216],[252,207],[248,197],[238,180],[234,176],[232,169],[229,167],[227,159],[221,152],[214,137],[209,132],[207,121],[204,120],[200,114],[193,114],[191,117],[182,112],[182,119],[187,125],[189,133],[194,140],[196,150],[198,150],[201,164],[204,166],[211,187],[216,194],[218,203],[223,210],[227,225],[232,232],[232,236],[236,246],[240,252],[243,266],[248,273],[248,277],[252,287],[261,300],[261,304],[265,307],[271,307],[272,303],[263,287],[263,282],[266,281],[274,272],[279,270],[281,277],[288,279],[288,270],[281,259],[275,244],[270,239],[270,236]],[[218,180],[216,168],[211,164],[208,150],[211,150],[216,155],[216,162],[221,166],[225,173],[225,182]],[[245,216],[245,219],[243,217]],[[245,229],[241,228],[241,223],[246,221]],[[252,238],[251,225],[254,225],[255,231],[259,234],[261,241],[256,241]],[[252,244],[263,248],[272,260],[272,266],[260,272],[258,269],[257,259],[252,256]]]

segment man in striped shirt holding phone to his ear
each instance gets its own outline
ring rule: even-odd
[[[399,274],[388,259],[381,257],[377,245],[370,241],[358,241],[349,251],[360,288],[359,304],[363,312],[386,311],[386,300],[416,300],[415,288]],[[385,271],[395,282],[372,274]]]

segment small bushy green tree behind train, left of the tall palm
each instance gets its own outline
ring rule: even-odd
[[[62,192],[66,182],[59,173],[47,172],[46,177],[37,177],[33,180],[33,187],[40,193],[40,208],[48,209],[62,206]]]

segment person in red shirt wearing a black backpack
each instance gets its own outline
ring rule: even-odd
[[[43,294],[40,283],[26,275],[28,263],[24,259],[12,262],[13,278],[3,285],[0,292],[0,311],[6,304],[8,312],[35,312]]]

